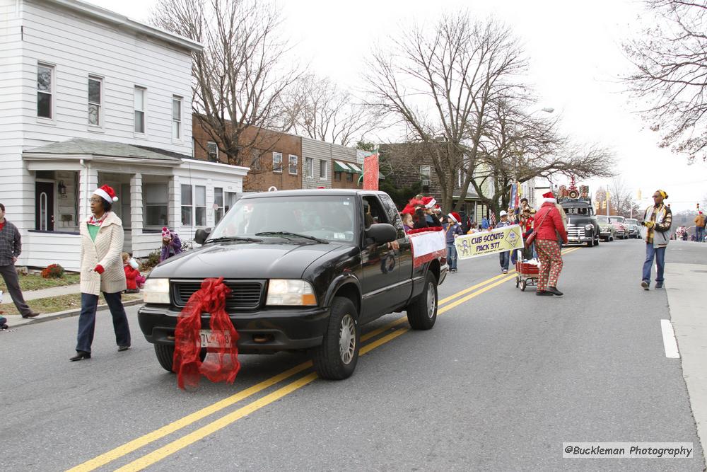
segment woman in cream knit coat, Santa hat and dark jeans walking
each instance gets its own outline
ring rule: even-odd
[[[108,185],[98,188],[90,199],[91,217],[83,221],[81,233],[81,315],[78,317],[76,355],[71,361],[90,359],[90,346],[95,330],[98,295],[103,292],[113,317],[115,341],[119,351],[130,348],[130,328],[120,294],[126,289],[122,221],[111,212],[117,202],[115,191]]]

